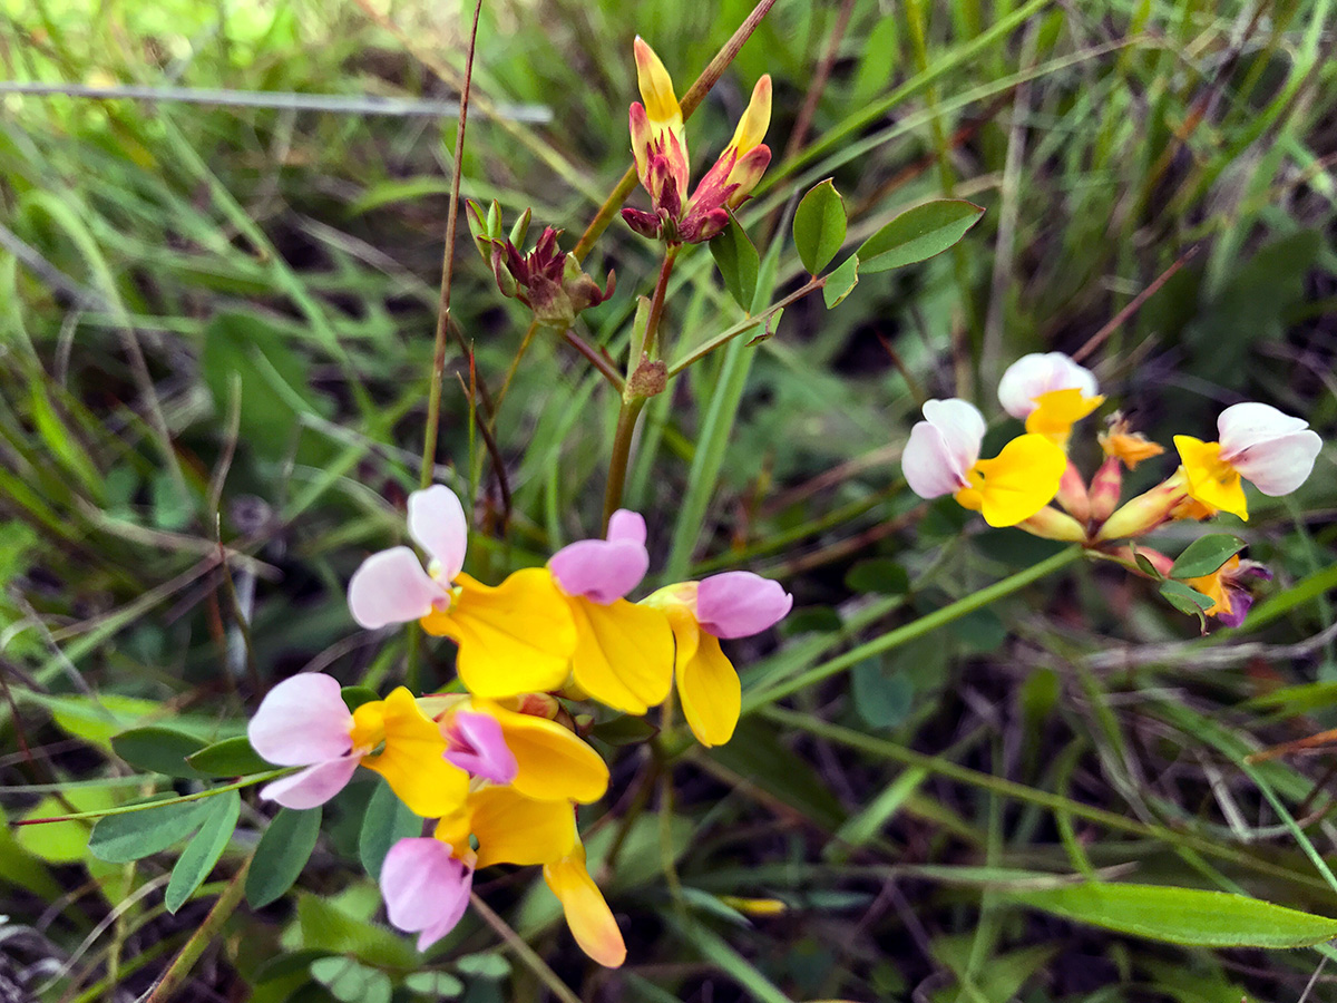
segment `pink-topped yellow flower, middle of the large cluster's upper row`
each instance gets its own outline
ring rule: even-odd
[[[667,618],[623,598],[648,567],[646,520],[624,508],[608,520],[607,539],[568,544],[548,562],[576,626],[571,655],[576,689],[628,714],[662,703],[673,686]]]

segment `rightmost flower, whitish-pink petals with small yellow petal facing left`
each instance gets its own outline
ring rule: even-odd
[[[1309,477],[1322,448],[1308,421],[1253,401],[1221,412],[1217,432],[1215,443],[1174,437],[1187,495],[1207,514],[1231,512],[1241,519],[1249,518],[1242,481],[1265,495],[1289,495]]]

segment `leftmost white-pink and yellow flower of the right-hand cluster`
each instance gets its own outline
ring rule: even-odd
[[[901,455],[905,481],[920,497],[952,495],[989,526],[1016,526],[1059,489],[1067,456],[1048,436],[1017,436],[992,460],[980,459],[984,416],[968,401],[931,400]]]

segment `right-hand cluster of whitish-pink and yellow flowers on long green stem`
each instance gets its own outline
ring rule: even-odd
[[[1309,477],[1322,447],[1302,419],[1267,404],[1235,404],[1221,412],[1215,441],[1175,436],[1179,467],[1120,506],[1123,469],[1134,469],[1165,448],[1115,412],[1099,435],[1106,459],[1087,483],[1067,447],[1072,427],[1104,403],[1098,391],[1095,374],[1059,352],[1024,356],[999,381],[999,403],[1025,423],[1025,433],[996,457],[981,460],[985,423],[979,409],[964,400],[931,400],[902,453],[905,480],[921,497],[952,495],[989,526],[1016,526],[1036,536],[1080,543],[1139,574],[1169,578],[1170,558],[1130,540],[1173,520],[1209,519],[1218,512],[1246,520],[1243,481],[1265,495],[1289,495]],[[1271,575],[1254,562],[1230,556],[1213,574],[1182,580],[1201,596],[1207,615],[1238,626],[1251,603],[1245,587],[1249,578]]]

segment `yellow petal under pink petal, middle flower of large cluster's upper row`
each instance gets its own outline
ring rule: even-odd
[[[674,645],[667,617],[626,599],[608,606],[579,596],[568,596],[567,602],[576,622],[571,659],[576,685],[627,714],[644,714],[662,703],[673,686]]]

